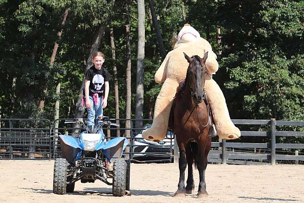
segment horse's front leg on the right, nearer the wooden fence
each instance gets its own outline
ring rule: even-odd
[[[205,171],[208,164],[208,153],[206,155],[206,144],[202,144],[199,146],[200,148],[200,154],[199,154],[199,160],[198,160],[198,170],[200,175],[200,184],[199,184],[199,190],[198,190],[198,198],[206,197],[208,196],[208,192],[206,190],[206,182],[205,182]]]

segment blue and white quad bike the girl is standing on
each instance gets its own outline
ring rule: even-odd
[[[98,179],[112,185],[114,196],[124,196],[130,190],[130,161],[122,158],[128,141],[120,137],[107,141],[102,131],[104,125],[119,125],[111,123],[108,117],[99,121],[92,131],[82,120],[65,123],[82,125],[85,131],[78,138],[59,135],[63,158],[57,158],[54,163],[53,192],[73,192],[75,182],[94,183]]]

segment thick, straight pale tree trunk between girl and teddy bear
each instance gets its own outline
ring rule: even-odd
[[[138,44],[137,44],[137,70],[136,70],[136,108],[135,118],[143,116],[143,68],[144,68],[144,0],[137,0],[138,9]],[[135,127],[142,127],[142,121],[136,121]]]

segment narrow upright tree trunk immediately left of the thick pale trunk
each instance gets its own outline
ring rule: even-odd
[[[127,67],[126,67],[126,128],[131,128],[131,38],[130,38],[130,8],[129,5],[126,5],[126,60],[127,60]],[[130,133],[131,130],[126,130],[125,137],[130,138],[133,136]],[[130,143],[133,144],[133,143]],[[130,152],[130,148],[127,147],[126,152]],[[130,158],[128,154],[126,158]]]

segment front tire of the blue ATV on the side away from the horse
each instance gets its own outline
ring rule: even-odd
[[[64,158],[55,160],[53,177],[53,192],[55,194],[66,194],[67,165],[68,163]]]

